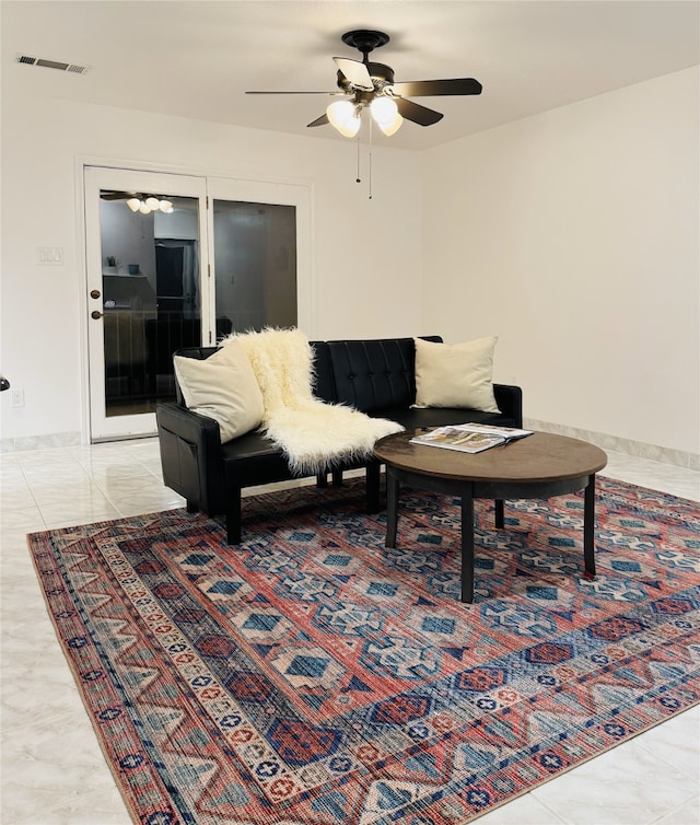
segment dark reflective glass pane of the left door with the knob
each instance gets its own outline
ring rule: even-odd
[[[131,193],[100,196],[105,415],[154,413],[175,397],[173,352],[201,342],[197,198],[142,212]]]

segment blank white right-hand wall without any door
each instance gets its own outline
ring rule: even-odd
[[[700,452],[698,70],[424,153],[423,328],[545,422]]]

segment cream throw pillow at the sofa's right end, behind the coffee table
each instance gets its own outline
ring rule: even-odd
[[[416,406],[466,407],[499,413],[493,397],[493,349],[498,336],[465,344],[416,341]]]

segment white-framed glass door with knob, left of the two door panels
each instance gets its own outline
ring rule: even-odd
[[[173,352],[202,344],[205,185],[190,195],[177,176],[85,173],[91,435],[150,434],[156,403],[175,398]]]

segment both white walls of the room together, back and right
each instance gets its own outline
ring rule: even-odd
[[[687,70],[422,155],[375,149],[369,200],[353,141],[3,89],[0,372],[26,406],[0,395],[0,437],[84,426],[75,170],[104,158],[311,182],[310,336],[495,332],[526,417],[698,453],[698,100]]]

